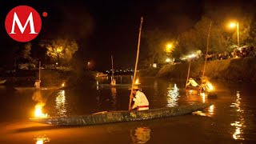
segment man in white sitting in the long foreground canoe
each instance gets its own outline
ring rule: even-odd
[[[133,99],[134,104],[130,107],[130,110],[135,108],[137,108],[137,110],[149,110],[150,103],[147,100],[146,95],[138,89],[138,86],[134,86],[132,93],[130,98]]]

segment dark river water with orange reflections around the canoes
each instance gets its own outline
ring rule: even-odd
[[[130,76],[118,77],[126,84]],[[110,79],[99,78],[99,84]],[[256,89],[254,83],[213,82],[218,98],[187,94],[185,83],[142,78],[150,108],[213,102],[214,106],[184,116],[142,122],[82,127],[48,126],[29,122],[38,101],[50,116],[127,110],[130,90],[89,84],[76,90],[18,91],[1,86],[1,143],[254,143],[256,142]],[[32,99],[34,98],[34,99]],[[41,138],[41,139],[38,139]]]

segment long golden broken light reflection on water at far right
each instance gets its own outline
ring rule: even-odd
[[[246,126],[244,125],[245,120],[242,117],[242,114],[243,114],[244,110],[242,110],[242,108],[241,108],[241,98],[240,98],[240,92],[239,91],[237,91],[236,96],[237,96],[236,101],[234,103],[232,103],[231,107],[236,108],[236,111],[238,112],[238,121],[233,122],[230,125],[235,127],[233,138],[244,140],[244,138],[242,138],[242,134],[243,134],[243,129]]]

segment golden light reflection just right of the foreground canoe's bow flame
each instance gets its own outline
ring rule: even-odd
[[[58,92],[58,96],[55,99],[56,102],[56,109],[58,110],[58,116],[66,117],[66,96],[65,90],[60,90]]]

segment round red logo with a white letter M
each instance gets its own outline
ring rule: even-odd
[[[16,6],[6,15],[6,32],[18,42],[30,42],[41,30],[42,20],[30,6]]]

